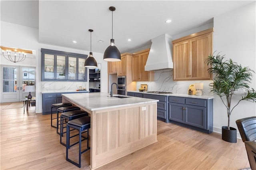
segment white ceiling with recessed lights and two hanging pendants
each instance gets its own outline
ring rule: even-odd
[[[1,0],[1,20],[39,30],[39,43],[104,53],[112,36],[121,53],[149,45],[162,34],[176,36],[255,0]],[[172,22],[165,23],[170,19]],[[128,42],[130,38],[132,41]],[[77,43],[73,43],[75,40]],[[104,42],[99,43],[99,40]],[[4,44],[2,44],[4,45]]]

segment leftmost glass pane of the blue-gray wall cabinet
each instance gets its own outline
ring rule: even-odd
[[[44,79],[54,79],[54,55],[44,55]]]

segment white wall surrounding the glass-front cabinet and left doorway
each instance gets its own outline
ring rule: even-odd
[[[21,63],[8,63],[1,55],[0,64],[6,65],[24,65],[36,67],[36,113],[42,112],[42,82],[41,82],[41,48],[54,49],[58,51],[66,51],[72,53],[89,54],[89,51],[47,45],[38,42],[38,29],[12,24],[1,21],[1,40],[0,45],[7,47],[16,47],[22,49],[30,49],[36,51],[35,59],[26,59]],[[108,63],[103,60],[102,53],[94,53],[98,63],[101,63],[101,92],[108,92]],[[1,72],[0,72],[1,74]],[[89,75],[88,75],[89,76]],[[54,82],[58,83],[58,82]],[[74,82],[73,82],[74,83]],[[89,84],[87,85],[89,87]]]

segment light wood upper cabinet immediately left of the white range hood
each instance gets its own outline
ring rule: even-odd
[[[132,56],[132,81],[154,81],[154,71],[145,71],[149,49],[134,53]]]

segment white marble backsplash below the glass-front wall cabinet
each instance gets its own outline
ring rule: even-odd
[[[88,82],[74,82],[74,81],[42,81],[42,93],[47,91],[76,91],[80,86],[82,88],[88,87]]]

